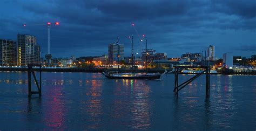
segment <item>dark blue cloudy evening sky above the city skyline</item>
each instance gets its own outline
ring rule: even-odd
[[[215,46],[215,55],[256,54],[256,1],[139,1],[139,0],[59,0],[0,1],[0,38],[17,40],[17,33],[37,37],[42,55],[47,52],[47,22],[51,26],[51,54],[64,58],[75,55],[107,54],[109,43],[125,45],[125,56],[134,47],[140,52],[146,35],[149,48],[168,57],[201,53]],[[26,24],[27,26],[23,26]]]

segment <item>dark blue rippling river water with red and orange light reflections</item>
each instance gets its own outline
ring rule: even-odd
[[[180,75],[180,82],[193,75]],[[42,98],[28,99],[26,72],[0,72],[0,130],[255,130],[256,76],[205,76],[173,94],[161,80],[112,80],[100,73],[42,73]],[[36,89],[36,86],[33,85]]]

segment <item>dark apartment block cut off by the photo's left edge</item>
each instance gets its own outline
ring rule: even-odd
[[[15,40],[0,39],[0,65],[17,65],[17,44]]]

